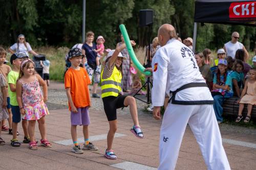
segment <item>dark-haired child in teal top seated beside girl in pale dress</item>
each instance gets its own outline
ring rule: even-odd
[[[238,96],[240,98],[241,92],[245,85],[245,79],[244,79],[244,64],[242,60],[236,60],[233,64],[231,73],[232,83],[233,83],[233,92],[235,96]]]

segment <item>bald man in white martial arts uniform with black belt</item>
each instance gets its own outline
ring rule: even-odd
[[[175,169],[187,124],[200,146],[208,169],[230,169],[212,106],[211,93],[203,79],[194,53],[176,39],[172,25],[158,30],[161,47],[153,68],[153,115],[160,119],[165,93],[172,98],[164,112],[160,131],[158,169]]]

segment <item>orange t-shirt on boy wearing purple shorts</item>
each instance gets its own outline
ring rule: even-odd
[[[65,74],[64,82],[65,88],[71,88],[71,97],[76,108],[90,105],[88,85],[91,81],[86,69],[80,67],[79,70],[75,70],[70,67]],[[69,110],[71,110],[70,103]]]

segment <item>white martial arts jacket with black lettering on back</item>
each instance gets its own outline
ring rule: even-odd
[[[175,38],[156,52],[153,61],[152,105],[163,106],[165,93],[175,91],[188,83],[203,83],[194,53]],[[203,89],[203,90],[202,90]],[[180,101],[213,100],[207,87],[193,87],[179,91]]]

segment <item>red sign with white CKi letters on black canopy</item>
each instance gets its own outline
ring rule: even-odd
[[[229,18],[256,18],[256,1],[231,3]]]

